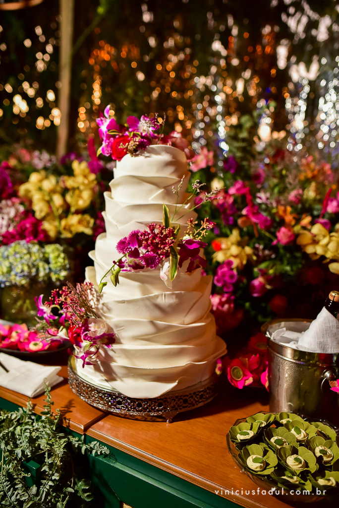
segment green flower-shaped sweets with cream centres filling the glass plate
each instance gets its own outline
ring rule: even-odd
[[[233,425],[227,440],[234,460],[277,493],[339,491],[338,437],[321,421],[288,412],[257,413]]]

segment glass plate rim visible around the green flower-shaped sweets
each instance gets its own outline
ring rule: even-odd
[[[258,411],[258,412],[261,412],[263,415],[274,414],[274,413],[271,413],[270,411]],[[236,422],[234,422],[232,426],[236,426],[236,425],[239,425],[243,422],[246,422],[247,418],[249,418],[250,416],[254,416],[254,415],[249,415],[246,418],[240,418],[240,419],[236,420]],[[316,422],[320,422],[325,425],[328,425],[331,429],[333,429],[335,431],[335,433],[337,435],[339,435],[339,428],[335,427],[333,424],[331,424],[327,420],[322,420],[320,418],[317,418],[317,419],[308,418],[308,417],[305,417],[300,414],[299,414],[299,416],[301,416],[301,418],[303,418],[305,421],[313,421],[313,422],[316,421]],[[294,494],[290,494],[288,491],[285,491],[285,489],[284,489],[284,494],[282,494],[281,487],[279,487],[279,485],[273,480],[272,477],[263,476],[263,475],[260,475],[260,477],[259,477],[259,475],[251,473],[250,471],[248,471],[247,469],[244,468],[243,464],[238,459],[239,451],[235,448],[235,444],[230,440],[229,432],[227,432],[226,441],[227,441],[228,452],[231,454],[232,459],[234,460],[235,464],[240,468],[240,470],[242,472],[244,472],[246,474],[246,476],[248,476],[248,478],[250,478],[252,480],[252,482],[254,482],[258,487],[261,487],[262,489],[265,489],[267,491],[274,491],[274,493],[273,493],[274,496],[280,497],[282,499],[288,499],[288,500],[294,501],[294,502],[304,502],[304,503],[314,503],[317,501],[324,501],[324,500],[326,500],[326,501],[338,501],[339,500],[339,495],[333,495],[333,496],[330,496],[330,495],[323,496],[323,495],[317,495],[317,494],[294,495]],[[294,491],[296,491],[296,490],[299,490],[299,489],[295,488]]]

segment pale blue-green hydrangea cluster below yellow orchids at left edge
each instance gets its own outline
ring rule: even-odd
[[[41,246],[36,241],[16,240],[0,247],[0,287],[60,282],[69,272],[69,260],[57,243]]]

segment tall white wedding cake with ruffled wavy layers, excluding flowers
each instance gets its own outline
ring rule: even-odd
[[[121,256],[116,249],[119,240],[150,223],[162,224],[163,204],[170,216],[175,213],[173,187],[178,188],[183,177],[179,206],[187,198],[189,180],[183,151],[151,145],[117,162],[111,192],[105,193],[106,233],[98,236],[90,252],[94,267],[86,270],[95,288]],[[184,215],[177,223],[184,232],[187,220],[196,214],[188,208],[180,212]],[[105,279],[108,284],[96,311],[116,334],[115,343],[101,347],[92,365],[83,367],[82,360],[75,359],[75,370],[84,380],[128,397],[153,398],[213,375],[226,348],[216,336],[210,313],[212,277],[202,276],[200,268],[188,273],[182,267],[172,284],[165,285],[159,274],[160,267],[122,271],[116,287],[109,276]]]

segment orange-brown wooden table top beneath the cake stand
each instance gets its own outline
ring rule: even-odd
[[[67,377],[66,366],[61,375]],[[25,406],[28,397],[0,387],[0,397]],[[44,395],[31,399],[36,412],[43,410]],[[239,418],[268,411],[264,389],[238,390],[225,380],[219,396],[206,406],[177,416],[171,424],[142,422],[108,415],[78,398],[66,382],[52,388],[54,408],[64,424],[79,433],[163,469],[194,485],[246,508],[304,508],[304,503],[284,501],[258,488],[233,462],[226,434]],[[298,496],[296,495],[296,500]],[[318,502],[317,508],[328,507]]]

